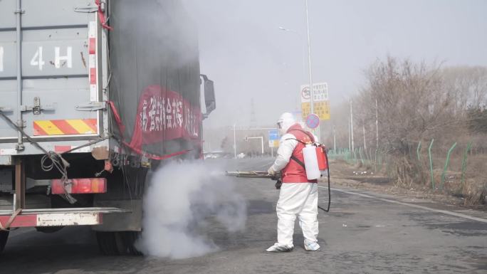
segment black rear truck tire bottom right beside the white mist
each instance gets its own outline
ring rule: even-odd
[[[98,248],[103,255],[142,255],[135,248],[138,231],[97,231]]]

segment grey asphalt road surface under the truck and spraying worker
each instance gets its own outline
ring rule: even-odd
[[[226,165],[245,170],[270,162]],[[89,228],[51,234],[29,228],[11,233],[0,273],[487,273],[484,212],[354,189],[334,188],[330,213],[320,211],[322,251],[304,251],[296,225],[293,252],[266,253],[276,241],[278,191],[270,180],[234,180],[247,199],[246,229],[226,233],[217,224],[209,227],[206,233],[220,248],[214,253],[182,260],[107,257],[98,252]],[[320,186],[324,206],[326,189]]]

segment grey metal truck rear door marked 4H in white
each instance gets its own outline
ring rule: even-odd
[[[22,0],[20,11],[16,5],[0,1],[0,110],[14,122],[21,112],[24,130],[34,138],[98,137],[103,117],[93,111],[102,100],[95,0]],[[0,142],[16,142],[17,131],[0,120]]]

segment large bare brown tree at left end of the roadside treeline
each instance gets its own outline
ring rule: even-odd
[[[443,91],[439,65],[388,57],[371,65],[366,77],[367,85],[358,95],[357,113],[367,121],[367,127],[374,128],[377,100],[382,147],[406,152],[411,144],[459,122],[451,112],[454,100]],[[373,139],[373,131],[367,132]]]

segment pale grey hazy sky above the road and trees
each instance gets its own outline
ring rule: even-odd
[[[296,110],[299,86],[308,83],[304,0],[186,2],[199,27],[201,73],[216,87],[205,126],[249,125],[251,98],[261,125]],[[487,65],[486,0],[308,2],[313,82],[328,82],[332,107],[387,55]]]

